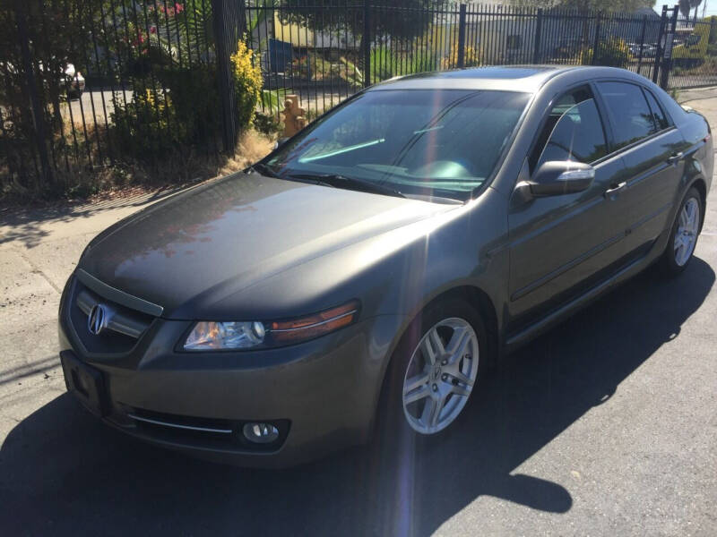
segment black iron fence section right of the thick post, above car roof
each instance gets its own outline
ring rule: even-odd
[[[310,2],[246,4],[267,112],[296,93],[311,118],[393,76],[461,67],[608,64],[657,80],[668,66],[659,54],[667,9],[661,16],[457,3],[420,11],[348,2],[319,9]],[[409,20],[419,31],[404,26]]]

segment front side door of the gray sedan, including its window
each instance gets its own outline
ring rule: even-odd
[[[568,300],[619,258],[624,228],[613,198],[625,166],[610,156],[605,123],[590,86],[557,98],[526,159],[522,175],[541,163],[574,160],[591,164],[595,178],[584,192],[523,201],[517,191],[508,215],[509,314],[516,325]],[[517,327],[516,327],[517,328]]]

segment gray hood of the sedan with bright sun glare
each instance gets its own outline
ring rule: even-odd
[[[220,301],[267,277],[455,205],[230,175],[118,222],[79,267],[194,319],[193,303]],[[297,282],[300,286],[301,282]]]

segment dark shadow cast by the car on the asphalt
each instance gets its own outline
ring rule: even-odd
[[[59,396],[0,449],[0,527],[8,535],[428,535],[481,496],[566,512],[569,474],[515,469],[680,337],[714,279],[696,258],[676,279],[647,271],[509,356],[440,442],[407,439],[391,453],[376,438],[287,470],[214,465],[127,438]]]

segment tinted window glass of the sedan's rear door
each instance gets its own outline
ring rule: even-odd
[[[655,132],[652,111],[639,86],[626,82],[598,82],[598,88],[615,127],[613,149],[640,141]]]

